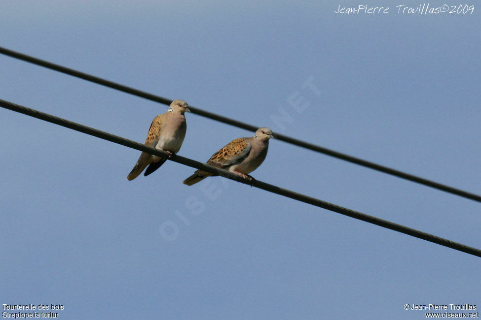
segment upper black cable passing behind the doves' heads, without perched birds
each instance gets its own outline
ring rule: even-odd
[[[37,65],[40,65],[40,66],[43,66],[43,67],[46,67],[46,68],[49,68],[49,69],[52,69],[52,70],[62,72],[62,73],[70,74],[74,77],[81,78],[81,79],[84,79],[84,80],[87,80],[87,81],[90,81],[90,82],[95,82],[97,84],[100,84],[100,85],[103,85],[103,86],[106,86],[106,87],[110,87],[112,89],[116,89],[116,90],[119,90],[119,91],[122,91],[122,92],[125,92],[125,93],[128,93],[128,94],[134,95],[134,96],[140,96],[140,97],[146,98],[148,100],[160,102],[160,103],[167,104],[167,105],[169,105],[172,102],[172,100],[161,97],[161,96],[155,96],[155,95],[149,94],[149,93],[144,92],[144,91],[140,91],[140,90],[130,88],[130,87],[127,87],[127,86],[124,86],[124,85],[121,85],[121,84],[118,84],[118,83],[115,83],[115,82],[112,82],[112,81],[109,81],[109,80],[98,78],[98,77],[95,77],[93,75],[83,73],[83,72],[80,72],[80,71],[76,71],[74,69],[70,69],[70,68],[67,68],[67,67],[62,66],[62,65],[52,64],[50,62],[43,61],[43,60],[31,57],[31,56],[27,56],[27,55],[24,55],[22,53],[15,52],[15,51],[12,51],[12,50],[8,50],[8,49],[2,48],[2,47],[0,47],[0,53],[4,54],[6,56],[12,57],[12,58],[16,58],[16,59],[19,59],[19,60],[30,62],[32,64],[37,64]],[[198,109],[198,108],[195,108],[195,107],[192,107],[192,106],[189,106],[189,109],[192,113],[197,114],[199,116],[203,116],[203,117],[210,118],[210,119],[213,119],[213,120],[216,120],[216,121],[220,121],[220,122],[223,122],[225,124],[232,125],[232,126],[235,126],[235,127],[238,127],[238,128],[243,128],[243,129],[250,130],[250,131],[256,131],[259,128],[259,127],[253,126],[253,125],[249,125],[249,124],[246,124],[246,123],[234,120],[234,119],[226,118],[226,117],[217,115],[215,113],[208,112],[208,111],[205,111],[205,110],[202,110],[202,109]],[[337,158],[337,159],[341,159],[341,160],[345,160],[345,161],[348,161],[348,162],[356,163],[356,164],[371,168],[373,170],[381,171],[381,172],[384,172],[384,173],[387,173],[387,174],[390,174],[390,175],[393,175],[393,176],[396,176],[396,177],[399,177],[399,178],[402,178],[402,179],[406,179],[406,180],[409,180],[409,181],[412,181],[412,182],[416,182],[416,183],[419,183],[419,184],[422,184],[422,185],[425,185],[425,186],[428,186],[428,187],[431,187],[431,188],[434,188],[434,189],[442,190],[444,192],[453,193],[453,194],[456,194],[456,195],[459,195],[459,196],[462,196],[462,197],[465,197],[465,198],[468,198],[468,199],[471,199],[471,200],[481,202],[481,196],[478,195],[478,194],[475,194],[475,193],[466,192],[466,191],[463,191],[463,190],[460,190],[460,189],[449,187],[449,186],[446,186],[446,185],[443,185],[443,184],[440,184],[440,183],[437,183],[437,182],[434,182],[434,181],[431,181],[431,180],[427,180],[427,179],[424,179],[424,178],[421,178],[421,177],[418,177],[418,176],[414,176],[412,174],[408,174],[408,173],[405,173],[405,172],[402,172],[402,171],[399,171],[399,170],[391,169],[389,167],[386,167],[386,166],[383,166],[383,165],[380,165],[380,164],[376,164],[374,162],[362,160],[362,159],[352,157],[352,156],[349,156],[349,155],[346,155],[346,154],[343,154],[343,153],[340,153],[340,152],[337,152],[337,151],[334,151],[334,150],[331,150],[331,149],[327,149],[327,148],[324,148],[324,147],[321,147],[321,146],[317,146],[317,145],[312,144],[312,143],[301,141],[301,140],[289,137],[289,136],[284,135],[284,134],[275,133],[275,135],[276,135],[276,138],[278,140],[281,140],[281,141],[284,141],[284,142],[287,142],[287,143],[291,143],[291,144],[294,144],[294,145],[302,147],[302,148],[306,148],[306,149],[309,149],[309,150],[312,150],[312,151],[323,153],[325,155],[328,155],[328,156],[331,156],[331,157],[334,157],[334,158]]]

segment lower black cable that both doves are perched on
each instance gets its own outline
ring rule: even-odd
[[[47,122],[50,122],[50,123],[53,123],[53,124],[56,124],[56,125],[59,125],[59,126],[70,128],[70,129],[73,129],[73,130],[76,130],[76,131],[80,131],[80,132],[83,132],[83,133],[86,133],[86,134],[89,134],[89,135],[96,136],[96,137],[104,139],[104,140],[108,140],[108,141],[111,141],[111,142],[114,142],[114,143],[117,143],[117,144],[121,144],[121,145],[129,147],[129,148],[137,149],[139,151],[144,151],[144,152],[147,152],[147,153],[155,155],[155,156],[159,156],[159,157],[163,157],[163,158],[169,157],[169,155],[164,151],[161,151],[161,150],[158,150],[158,149],[155,149],[155,148],[150,148],[150,147],[148,147],[144,144],[141,144],[141,143],[138,143],[138,142],[135,142],[135,141],[132,141],[132,140],[128,140],[128,139],[122,138],[120,136],[117,136],[117,135],[114,135],[114,134],[111,134],[111,133],[108,133],[108,132],[105,132],[105,131],[101,131],[101,130],[98,130],[98,129],[95,129],[95,128],[90,128],[90,127],[87,127],[87,126],[84,126],[84,125],[81,125],[81,124],[77,124],[77,123],[74,123],[72,121],[62,119],[62,118],[59,118],[59,117],[56,117],[56,116],[53,116],[53,115],[50,115],[50,114],[47,114],[47,113],[43,113],[41,111],[37,111],[37,110],[34,110],[34,109],[30,109],[30,108],[27,108],[27,107],[24,107],[24,106],[21,106],[21,105],[18,105],[18,104],[9,102],[9,101],[5,101],[5,100],[0,99],[0,106],[5,108],[5,109],[9,109],[9,110],[12,110],[12,111],[23,113],[25,115],[32,116],[32,117],[35,117],[37,119],[41,119],[41,120],[44,120],[44,121],[47,121]],[[383,219],[380,219],[380,218],[377,218],[377,217],[373,217],[373,216],[370,216],[370,215],[367,215],[367,214],[364,214],[364,213],[361,213],[361,212],[358,212],[358,211],[347,209],[347,208],[344,208],[344,207],[341,207],[341,206],[338,206],[338,205],[335,205],[335,204],[332,204],[332,203],[329,203],[329,202],[326,202],[326,201],[322,201],[322,200],[319,200],[319,199],[316,199],[316,198],[313,198],[313,197],[310,197],[310,196],[307,196],[307,195],[304,195],[304,194],[301,194],[301,193],[293,192],[291,190],[287,190],[287,189],[283,189],[283,188],[280,188],[280,187],[277,187],[277,186],[274,186],[274,185],[270,185],[268,183],[265,183],[265,182],[262,182],[262,181],[259,181],[259,180],[254,180],[252,182],[248,182],[237,174],[228,172],[228,171],[223,170],[223,169],[219,169],[217,167],[207,165],[207,164],[199,162],[199,161],[184,158],[184,157],[181,157],[179,155],[174,155],[169,160],[172,160],[172,161],[178,162],[178,163],[182,163],[184,165],[188,165],[188,166],[196,168],[196,169],[201,169],[201,170],[204,170],[204,171],[207,171],[207,172],[218,174],[222,177],[225,177],[225,178],[228,178],[228,179],[231,179],[231,180],[235,180],[237,182],[252,185],[253,187],[265,190],[267,192],[277,193],[277,194],[280,194],[280,195],[283,195],[283,196],[286,196],[286,197],[289,197],[289,198],[292,198],[292,199],[295,199],[295,200],[298,200],[298,201],[301,201],[301,202],[309,203],[309,204],[312,204],[312,205],[320,207],[320,208],[324,208],[324,209],[327,209],[327,210],[331,210],[331,211],[340,213],[342,215],[345,215],[345,216],[348,216],[348,217],[351,217],[351,218],[354,218],[354,219],[362,220],[362,221],[368,222],[370,224],[376,224],[376,225],[382,226],[384,228],[388,228],[388,229],[395,230],[395,231],[398,231],[398,232],[401,232],[401,233],[405,233],[407,235],[410,235],[410,236],[413,236],[413,237],[416,237],[416,238],[419,238],[419,239],[423,239],[423,240],[426,240],[426,241],[429,241],[429,242],[437,243],[437,244],[442,245],[444,247],[448,247],[448,248],[451,248],[451,249],[454,249],[454,250],[458,250],[458,251],[461,251],[461,252],[464,252],[464,253],[467,253],[467,254],[470,254],[470,255],[473,255],[473,256],[481,257],[481,250],[480,249],[469,247],[469,246],[466,246],[466,245],[463,245],[463,244],[460,244],[460,243],[457,243],[457,242],[454,242],[454,241],[451,241],[451,240],[448,240],[448,239],[444,239],[444,238],[435,236],[435,235],[430,234],[430,233],[419,231],[419,230],[416,230],[416,229],[413,229],[413,228],[410,228],[410,227],[407,227],[407,226],[404,226],[404,225],[401,225],[401,224],[395,224],[395,223],[390,222],[390,221],[386,221],[386,220],[383,220]]]

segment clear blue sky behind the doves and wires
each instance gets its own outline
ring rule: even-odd
[[[396,5],[419,3],[386,1],[389,14],[334,13],[359,4],[2,1],[0,46],[481,194],[477,4],[472,15],[402,15]],[[0,66],[1,99],[139,142],[167,110],[12,58]],[[199,161],[253,134],[186,118],[179,154]],[[219,177],[186,187],[194,169],[171,161],[129,182],[138,151],[9,110],[0,135],[0,303],[62,304],[59,319],[481,307],[478,257]],[[481,248],[475,201],[279,140],[252,175]]]

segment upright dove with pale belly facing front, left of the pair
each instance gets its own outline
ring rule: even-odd
[[[149,147],[163,150],[170,155],[179,152],[187,128],[184,116],[185,111],[190,111],[187,102],[184,100],[172,101],[166,113],[159,114],[153,119],[148,129],[145,144]],[[127,176],[127,179],[134,180],[147,166],[144,176],[148,176],[157,170],[166,160],[167,159],[143,152]]]

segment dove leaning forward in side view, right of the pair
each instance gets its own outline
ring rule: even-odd
[[[225,147],[213,154],[206,164],[237,173],[244,179],[253,180],[248,173],[256,170],[264,161],[269,147],[269,138],[273,138],[272,130],[259,128],[253,137],[230,141]],[[215,176],[215,174],[199,169],[185,179],[184,184],[192,186],[209,176]]]

